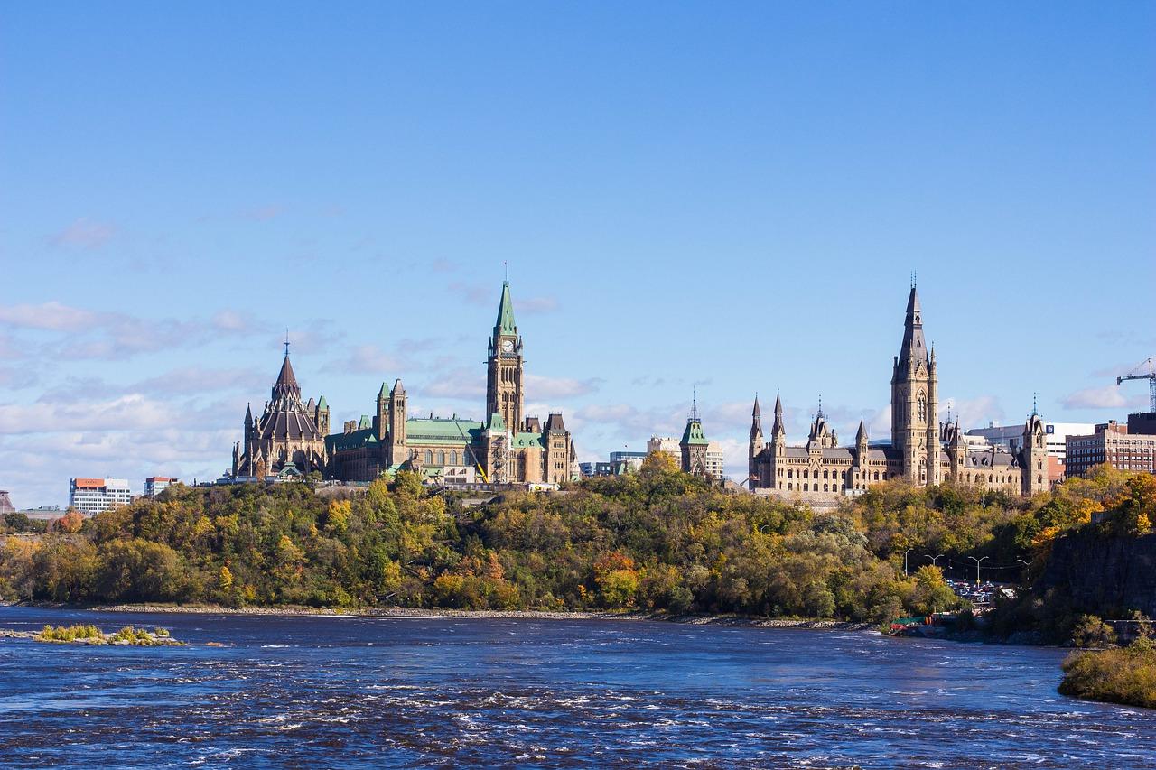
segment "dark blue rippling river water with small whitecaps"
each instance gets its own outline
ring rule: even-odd
[[[74,622],[164,625],[190,646],[0,639],[0,764],[1156,768],[1156,712],[1058,695],[1053,649],[0,607],[0,628]]]

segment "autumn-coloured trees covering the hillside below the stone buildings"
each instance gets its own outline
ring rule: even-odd
[[[1021,501],[882,484],[840,510],[728,494],[665,456],[639,473],[480,508],[413,474],[357,498],[307,484],[173,487],[80,532],[7,536],[0,594],[55,601],[637,607],[885,621],[959,605],[903,556],[1031,561],[1127,480]]]

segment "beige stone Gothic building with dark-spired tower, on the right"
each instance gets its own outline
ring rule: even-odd
[[[891,440],[873,445],[859,422],[854,444],[839,446],[820,407],[807,443],[786,445],[783,403],[775,398],[771,440],[763,440],[758,399],[751,413],[749,483],[783,497],[831,499],[855,495],[870,484],[903,479],[925,487],[951,481],[1011,494],[1031,495],[1048,487],[1044,423],[1038,414],[1024,424],[1022,447],[969,446],[958,420],[940,423],[935,350],[924,338],[919,295],[911,288],[903,342],[891,368]]]

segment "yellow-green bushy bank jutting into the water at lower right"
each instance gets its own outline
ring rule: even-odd
[[[1060,694],[1156,709],[1156,643],[1140,638],[1118,650],[1073,652]]]

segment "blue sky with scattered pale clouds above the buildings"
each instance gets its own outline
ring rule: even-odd
[[[482,419],[505,271],[579,459],[751,399],[885,438],[911,274],[964,424],[1156,356],[1156,5],[3,3],[0,489],[218,476],[282,357]]]

